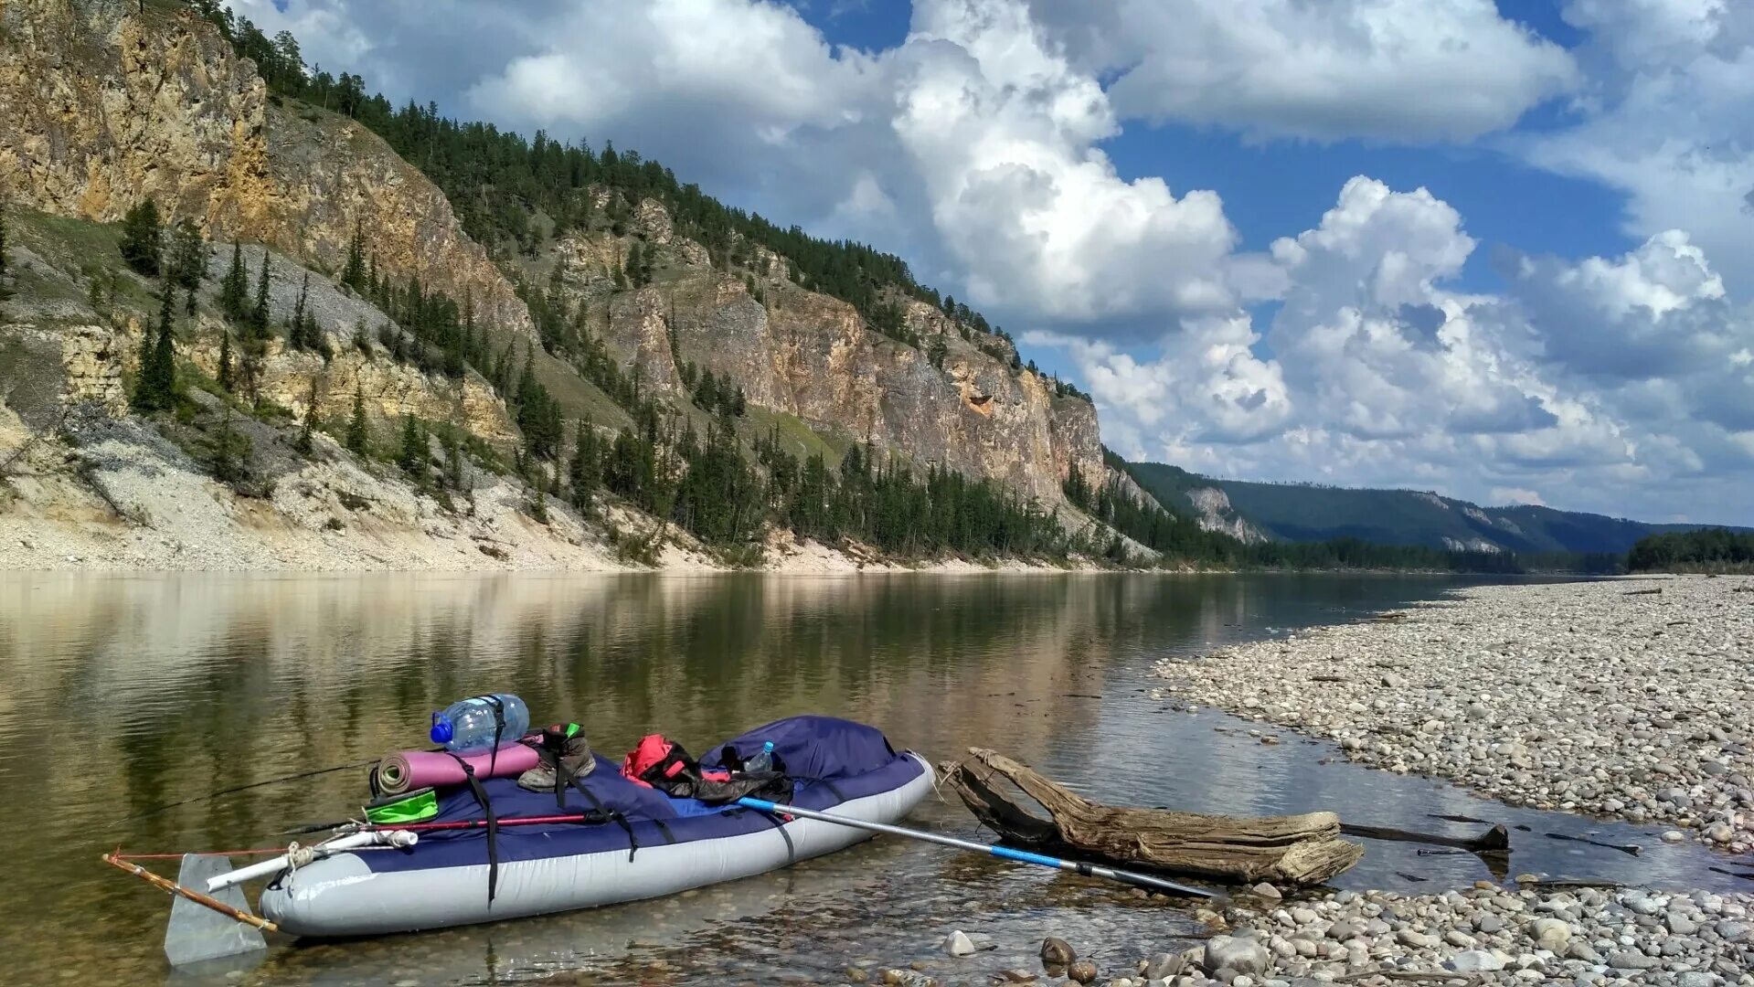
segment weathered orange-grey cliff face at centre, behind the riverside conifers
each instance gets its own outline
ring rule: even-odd
[[[791,284],[782,258],[758,259],[756,270],[766,268],[756,277],[758,300],[742,279],[696,261],[698,244],[668,233],[658,203],[642,203],[637,221],[647,249],[663,247],[667,270],[652,288],[605,295],[610,265],[626,254],[626,244],[607,235],[561,242],[556,261],[568,289],[591,307],[593,330],[660,391],[681,396],[675,359],[693,361],[728,375],[758,407],[916,463],[1003,480],[1044,501],[1061,500],[1073,463],[1100,473],[1096,410],[1056,398],[1045,379],[1012,372],[1009,359],[965,342],[937,309],[910,302],[903,319],[921,337],[944,338],[942,366],[868,330],[851,305]]]

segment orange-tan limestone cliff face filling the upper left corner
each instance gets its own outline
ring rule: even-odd
[[[339,270],[356,228],[379,270],[419,277],[482,324],[530,312],[444,195],[335,114],[270,105],[251,61],[189,12],[111,0],[0,4],[0,195],[116,221],[151,196],[209,238]]]

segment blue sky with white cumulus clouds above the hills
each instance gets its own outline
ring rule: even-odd
[[[1754,5],[237,9],[903,254],[1126,456],[1754,522]]]

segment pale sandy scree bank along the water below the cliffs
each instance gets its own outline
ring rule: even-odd
[[[0,572],[730,572],[674,524],[605,503],[591,522],[505,477],[470,493],[368,470],[324,437],[272,484],[221,484],[137,422],[84,422],[77,447],[32,442],[0,407]],[[270,447],[268,437],[261,447]],[[661,528],[661,531],[660,531]],[[633,545],[617,550],[616,542]],[[645,550],[645,542],[660,547]],[[647,565],[649,563],[649,565]],[[1066,572],[1094,563],[896,561],[775,531],[765,572]]]

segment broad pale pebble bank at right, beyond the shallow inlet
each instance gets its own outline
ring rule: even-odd
[[[1154,694],[1493,798],[1754,847],[1754,579],[1487,586],[1165,659]]]

